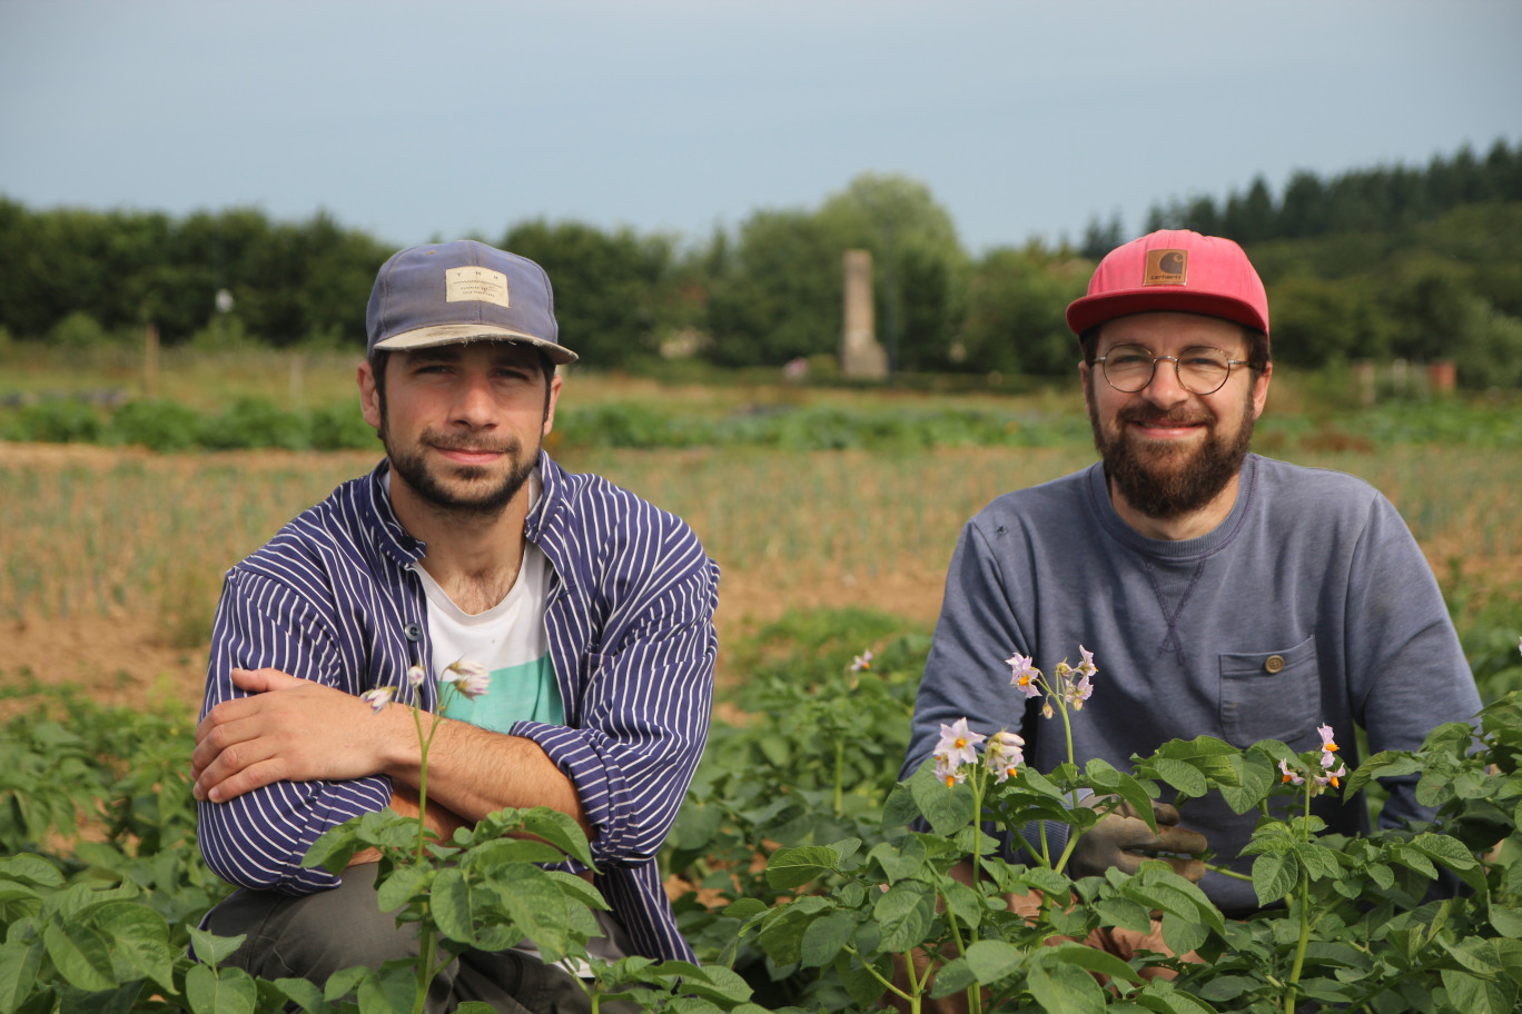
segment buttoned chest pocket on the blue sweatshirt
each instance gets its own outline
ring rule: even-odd
[[[1321,715],[1317,643],[1221,655],[1221,730],[1236,746],[1309,736]]]

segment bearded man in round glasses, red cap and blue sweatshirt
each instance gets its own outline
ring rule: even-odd
[[[1067,309],[1100,462],[1005,494],[968,521],[915,708],[903,774],[942,724],[1021,731],[1040,771],[1067,760],[1009,661],[1052,673],[1093,658],[1073,722],[1076,759],[1128,768],[1166,740],[1320,745],[1348,768],[1368,746],[1414,749],[1479,710],[1437,581],[1368,483],[1250,453],[1268,400],[1268,296],[1236,243],[1158,231],[1111,251]],[[1020,658],[1014,658],[1020,657]],[[1415,777],[1388,783],[1382,825],[1428,816]],[[1329,830],[1368,830],[1362,798],[1323,794]],[[1247,873],[1256,813],[1219,798],[1157,806],[1158,833],[1123,812],[1076,844],[1070,871],[1134,870],[1161,854],[1227,914],[1257,906]],[[1065,825],[1050,827],[1058,853]],[[1015,853],[1018,854],[1018,851]]]

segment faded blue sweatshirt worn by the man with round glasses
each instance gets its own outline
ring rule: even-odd
[[[1099,669],[1073,719],[1079,765],[1102,757],[1128,769],[1132,754],[1196,736],[1306,751],[1326,724],[1352,771],[1355,724],[1373,751],[1414,749],[1435,725],[1479,710],[1432,570],[1368,483],[1248,455],[1215,531],[1160,541],[1116,514],[1096,464],[1005,494],[965,526],[903,774],[930,756],[942,722],[962,716],[983,734],[1024,725],[1027,762],[1062,763],[1061,719],[1027,705],[1005,660],[1030,655],[1052,675],[1081,661],[1079,645]],[[1382,825],[1429,816],[1415,781],[1387,783]],[[1368,830],[1362,798],[1324,794],[1315,812],[1333,832]],[[1256,813],[1239,816],[1212,794],[1189,801],[1181,822],[1205,835],[1218,862],[1251,868],[1239,851]],[[1201,886],[1222,909],[1257,903],[1242,880],[1207,874]]]

